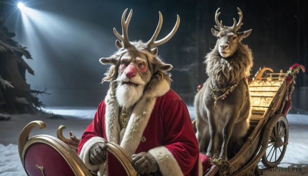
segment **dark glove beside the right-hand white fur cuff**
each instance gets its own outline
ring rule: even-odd
[[[131,164],[138,173],[145,174],[158,171],[158,163],[150,153],[140,152],[133,154],[131,158]]]

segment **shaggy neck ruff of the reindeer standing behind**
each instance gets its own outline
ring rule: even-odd
[[[221,58],[217,49],[214,49],[206,55],[204,63],[213,85],[216,88],[224,88],[250,74],[253,54],[247,45],[240,43],[238,51],[232,57]]]

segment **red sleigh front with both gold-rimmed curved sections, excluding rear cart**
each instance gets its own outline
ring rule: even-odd
[[[57,131],[59,139],[50,135],[36,135],[28,139],[29,133],[35,126],[46,128],[42,121],[30,122],[22,130],[18,141],[18,152],[27,175],[92,175],[76,153],[75,147],[78,147],[78,143],[63,136],[64,126],[60,126]],[[137,175],[131,165],[131,157],[119,145],[108,143],[107,153],[113,155],[122,164],[127,175]]]

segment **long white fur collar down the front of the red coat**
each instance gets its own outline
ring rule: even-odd
[[[129,155],[132,155],[140,144],[143,131],[151,116],[156,103],[156,98],[164,95],[170,89],[166,80],[143,93],[140,100],[134,106],[129,122],[125,128],[124,134],[120,131],[119,125],[119,105],[115,97],[110,96],[110,89],[105,97],[106,113],[106,136],[108,142],[120,144]],[[120,141],[120,135],[122,140]]]

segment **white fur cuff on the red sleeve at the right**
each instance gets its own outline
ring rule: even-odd
[[[148,151],[155,158],[163,175],[184,175],[174,155],[164,146]]]

